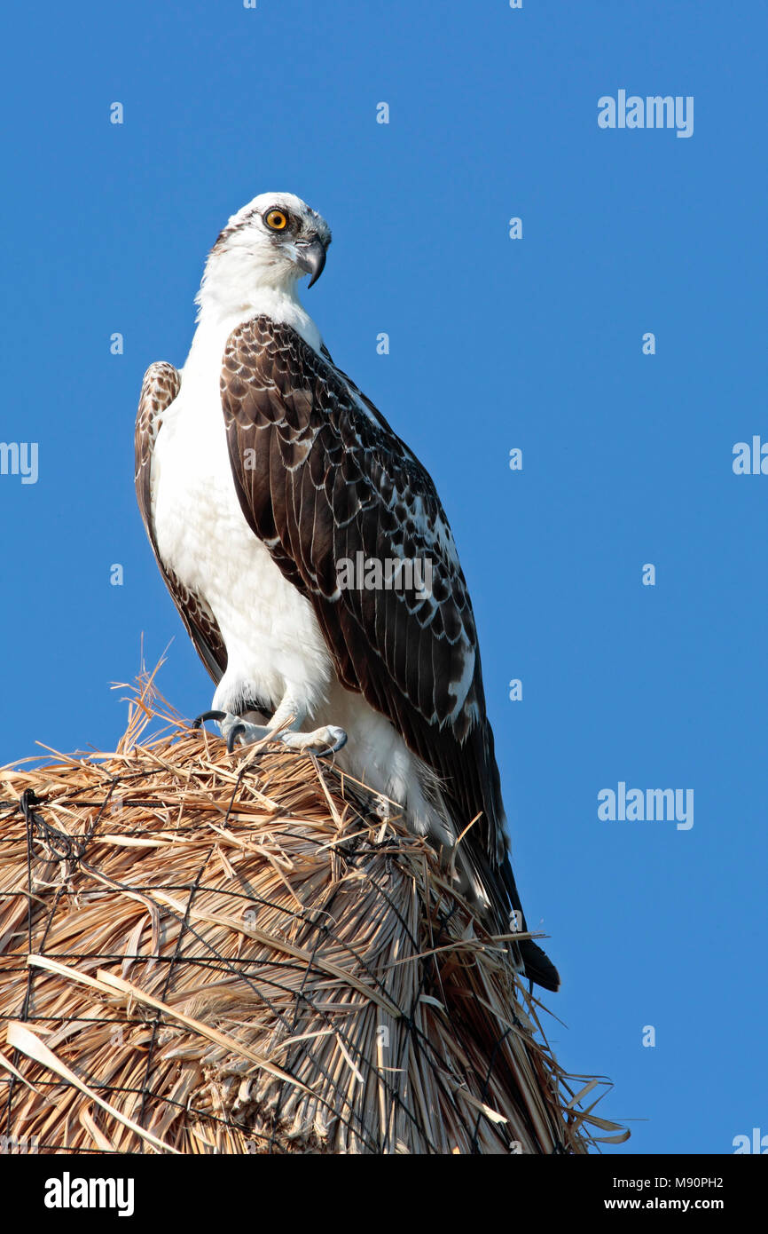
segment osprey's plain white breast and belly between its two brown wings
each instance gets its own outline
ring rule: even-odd
[[[216,706],[229,710],[238,697],[255,697],[276,707],[286,691],[297,690],[313,712],[327,694],[330,658],[311,605],[243,517],[218,387],[223,342],[212,341],[213,348],[208,357],[194,348],[158,433],[152,462],[158,549],[207,602],[222,632],[228,666]]]

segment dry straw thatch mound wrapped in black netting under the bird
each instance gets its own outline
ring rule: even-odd
[[[228,755],[149,676],[117,750],[55,758],[0,771],[0,1150],[626,1137],[430,848],[330,761]]]

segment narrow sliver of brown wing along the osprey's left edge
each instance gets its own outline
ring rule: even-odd
[[[181,378],[173,364],[164,362],[150,364],[144,374],[134,434],[136,496],[165,586],[173,596],[197,654],[213,680],[218,682],[227,668],[227,649],[216,618],[200,596],[185,587],[174,571],[163,563],[152,518],[152,453],[163,423],[163,412],[170,407],[180,387]]]

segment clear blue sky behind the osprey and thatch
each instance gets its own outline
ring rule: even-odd
[[[768,1133],[768,476],[731,465],[768,441],[766,25],[713,0],[137,0],[17,9],[1,53],[0,438],[37,443],[38,478],[0,475],[0,761],[110,748],[142,633],[150,664],[173,639],[166,696],[210,705],[136,508],[136,402],[185,359],[229,213],[297,193],[334,231],[306,304],[459,543],[518,882],[563,976],[551,1038],[647,1154]],[[619,89],[693,96],[693,136],[600,130]],[[619,781],[693,789],[694,826],[600,821]]]

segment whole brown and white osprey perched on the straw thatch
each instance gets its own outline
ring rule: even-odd
[[[186,364],[144,376],[142,517],[216,682],[201,718],[219,721],[229,749],[271,738],[334,753],[449,856],[494,930],[525,933],[451,529],[430,476],[298,300],[329,243],[325,221],[288,193],[232,216],[206,263]],[[349,585],[350,563],[362,584]],[[557,990],[531,939],[512,950]]]

